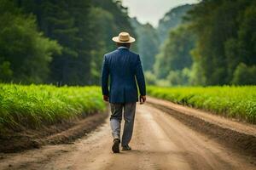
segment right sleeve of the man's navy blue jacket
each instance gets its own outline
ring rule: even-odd
[[[137,55],[135,75],[136,75],[137,85],[138,85],[140,94],[146,95],[146,84],[145,84],[145,78],[143,73],[143,66],[142,66],[142,62],[139,55]]]

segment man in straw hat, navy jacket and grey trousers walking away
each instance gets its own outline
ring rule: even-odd
[[[140,92],[140,102],[146,101],[146,86],[141,59],[138,54],[132,53],[129,48],[135,38],[129,33],[121,32],[119,37],[113,37],[118,49],[104,55],[102,65],[102,94],[111,107],[110,126],[113,135],[113,153],[119,153],[120,128],[122,112],[124,110],[125,127],[122,135],[122,150],[131,150],[133,122],[138,101],[137,85]],[[110,90],[108,90],[110,77]]]

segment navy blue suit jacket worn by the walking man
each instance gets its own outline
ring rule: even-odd
[[[108,77],[110,88],[108,90]],[[145,79],[141,59],[128,48],[104,55],[102,65],[102,94],[109,96],[110,103],[132,103],[138,101],[137,85],[141,95],[146,95]]]

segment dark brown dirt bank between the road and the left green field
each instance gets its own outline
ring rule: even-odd
[[[19,131],[8,130],[0,134],[0,153],[39,148],[44,144],[70,143],[95,129],[107,116],[107,113],[95,113],[83,119],[77,118],[36,129],[21,127]]]

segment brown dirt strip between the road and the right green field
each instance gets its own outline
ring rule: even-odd
[[[185,125],[196,131],[218,139],[241,153],[256,158],[256,126],[246,122],[235,122],[210,112],[196,110],[183,105],[176,105],[162,99],[148,98],[148,104],[166,111]]]

